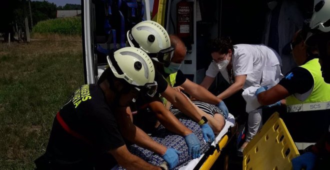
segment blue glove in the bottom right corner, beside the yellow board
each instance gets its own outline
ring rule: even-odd
[[[312,152],[305,152],[291,161],[293,170],[300,170],[302,167],[306,170],[312,170],[315,165],[316,155]]]

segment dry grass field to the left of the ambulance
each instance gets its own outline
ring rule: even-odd
[[[0,169],[33,169],[55,113],[83,84],[81,41],[0,43]]]

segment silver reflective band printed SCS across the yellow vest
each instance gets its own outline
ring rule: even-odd
[[[309,102],[301,104],[287,105],[287,112],[298,112],[298,111],[314,111],[314,110],[325,110],[330,109],[330,101],[325,102]]]

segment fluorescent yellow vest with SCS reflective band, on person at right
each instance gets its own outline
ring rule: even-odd
[[[301,67],[307,69],[314,79],[312,91],[303,101],[297,99],[298,95],[303,94],[291,94],[286,97],[286,111],[298,112],[330,109],[330,84],[324,82],[318,58],[309,60]]]

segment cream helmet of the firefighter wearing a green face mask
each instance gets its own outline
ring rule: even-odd
[[[169,63],[174,48],[170,46],[167,31],[159,23],[144,20],[127,31],[130,46],[142,49],[150,57],[161,63]]]

